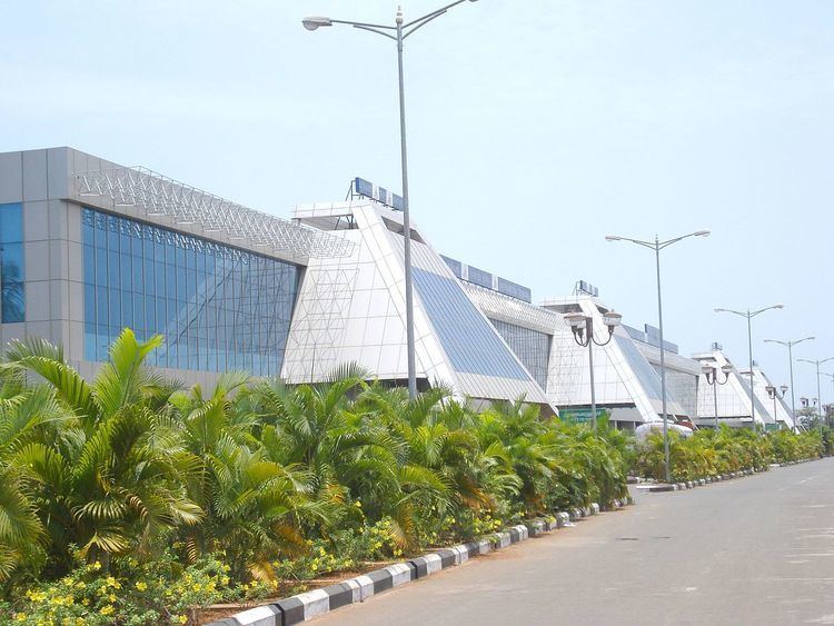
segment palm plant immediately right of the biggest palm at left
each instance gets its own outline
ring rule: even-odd
[[[251,405],[232,401],[248,380],[242,372],[225,374],[209,398],[195,386],[170,404],[198,466],[188,490],[206,513],[183,530],[189,558],[225,550],[238,579],[249,574],[266,580],[274,579],[272,558],[304,549],[302,521],[327,519],[327,507],[307,497],[309,473],[270,458],[272,427],[261,430],[262,440],[252,434],[258,416],[246,410]]]

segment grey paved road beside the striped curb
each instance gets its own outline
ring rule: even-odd
[[[315,624],[834,624],[834,459],[636,498]]]

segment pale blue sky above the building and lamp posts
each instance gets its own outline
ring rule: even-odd
[[[2,151],[69,145],[281,216],[357,175],[399,188],[393,42],[299,21],[394,1],[3,4]],[[713,308],[781,301],[754,326],[774,382],[765,337],[834,356],[834,2],[480,0],[407,43],[411,205],[440,251],[536,299],[589,280],[639,327],[651,252],[604,236],[711,229],[665,254],[667,338],[744,364],[744,320]]]

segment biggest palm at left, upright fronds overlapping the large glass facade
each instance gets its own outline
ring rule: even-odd
[[[13,342],[3,368],[46,380],[63,411],[50,437],[20,445],[12,463],[37,491],[37,513],[58,570],[71,566],[72,546],[88,560],[150,556],[179,525],[201,511],[185,490],[195,470],[166,410],[170,387],[145,367],[160,337],[136,340],[126,329],[92,385],[42,339]]]

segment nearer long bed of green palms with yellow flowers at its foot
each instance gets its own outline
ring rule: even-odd
[[[415,399],[356,367],[210,393],[126,329],[92,381],[38,339],[0,362],[0,622],[158,624],[625,495],[633,448],[519,399]]]

